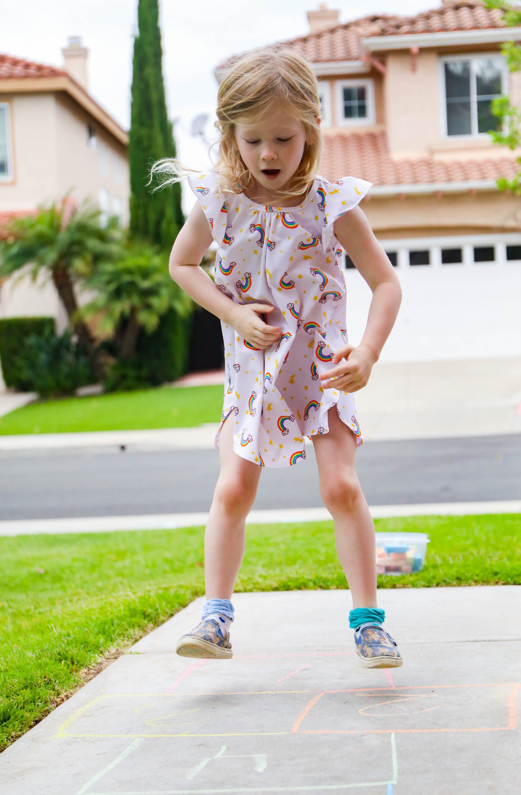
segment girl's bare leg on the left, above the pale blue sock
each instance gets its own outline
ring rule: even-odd
[[[206,599],[231,599],[243,562],[244,524],[259,486],[262,467],[233,450],[234,415],[220,432],[220,475],[204,533]]]

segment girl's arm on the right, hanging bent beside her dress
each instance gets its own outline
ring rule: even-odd
[[[324,389],[340,389],[356,392],[367,384],[372,366],[378,361],[382,348],[391,334],[402,303],[402,288],[399,278],[389,262],[387,254],[378,240],[360,207],[340,215],[333,227],[336,239],[352,258],[356,270],[360,271],[372,291],[367,325],[360,345],[344,345],[335,351],[331,362],[339,364],[319,376]],[[326,378],[335,381],[324,383]]]

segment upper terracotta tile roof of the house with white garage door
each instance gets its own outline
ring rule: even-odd
[[[486,9],[482,0],[444,0],[442,6],[411,17],[373,14],[318,33],[283,41],[282,44],[301,49],[314,63],[360,60],[363,56],[362,38],[504,28],[501,14],[499,9]],[[217,68],[225,68],[230,60],[227,58]]]

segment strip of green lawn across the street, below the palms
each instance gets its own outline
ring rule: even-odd
[[[160,386],[96,397],[29,403],[0,417],[0,436],[14,433],[192,428],[219,422],[223,386]]]

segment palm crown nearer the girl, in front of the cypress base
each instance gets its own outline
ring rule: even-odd
[[[173,281],[166,258],[150,243],[127,242],[119,260],[99,263],[85,284],[98,295],[80,308],[80,315],[99,314],[99,331],[113,336],[122,362],[133,358],[141,328],[151,334],[170,309],[181,317],[192,311],[192,301]]]

